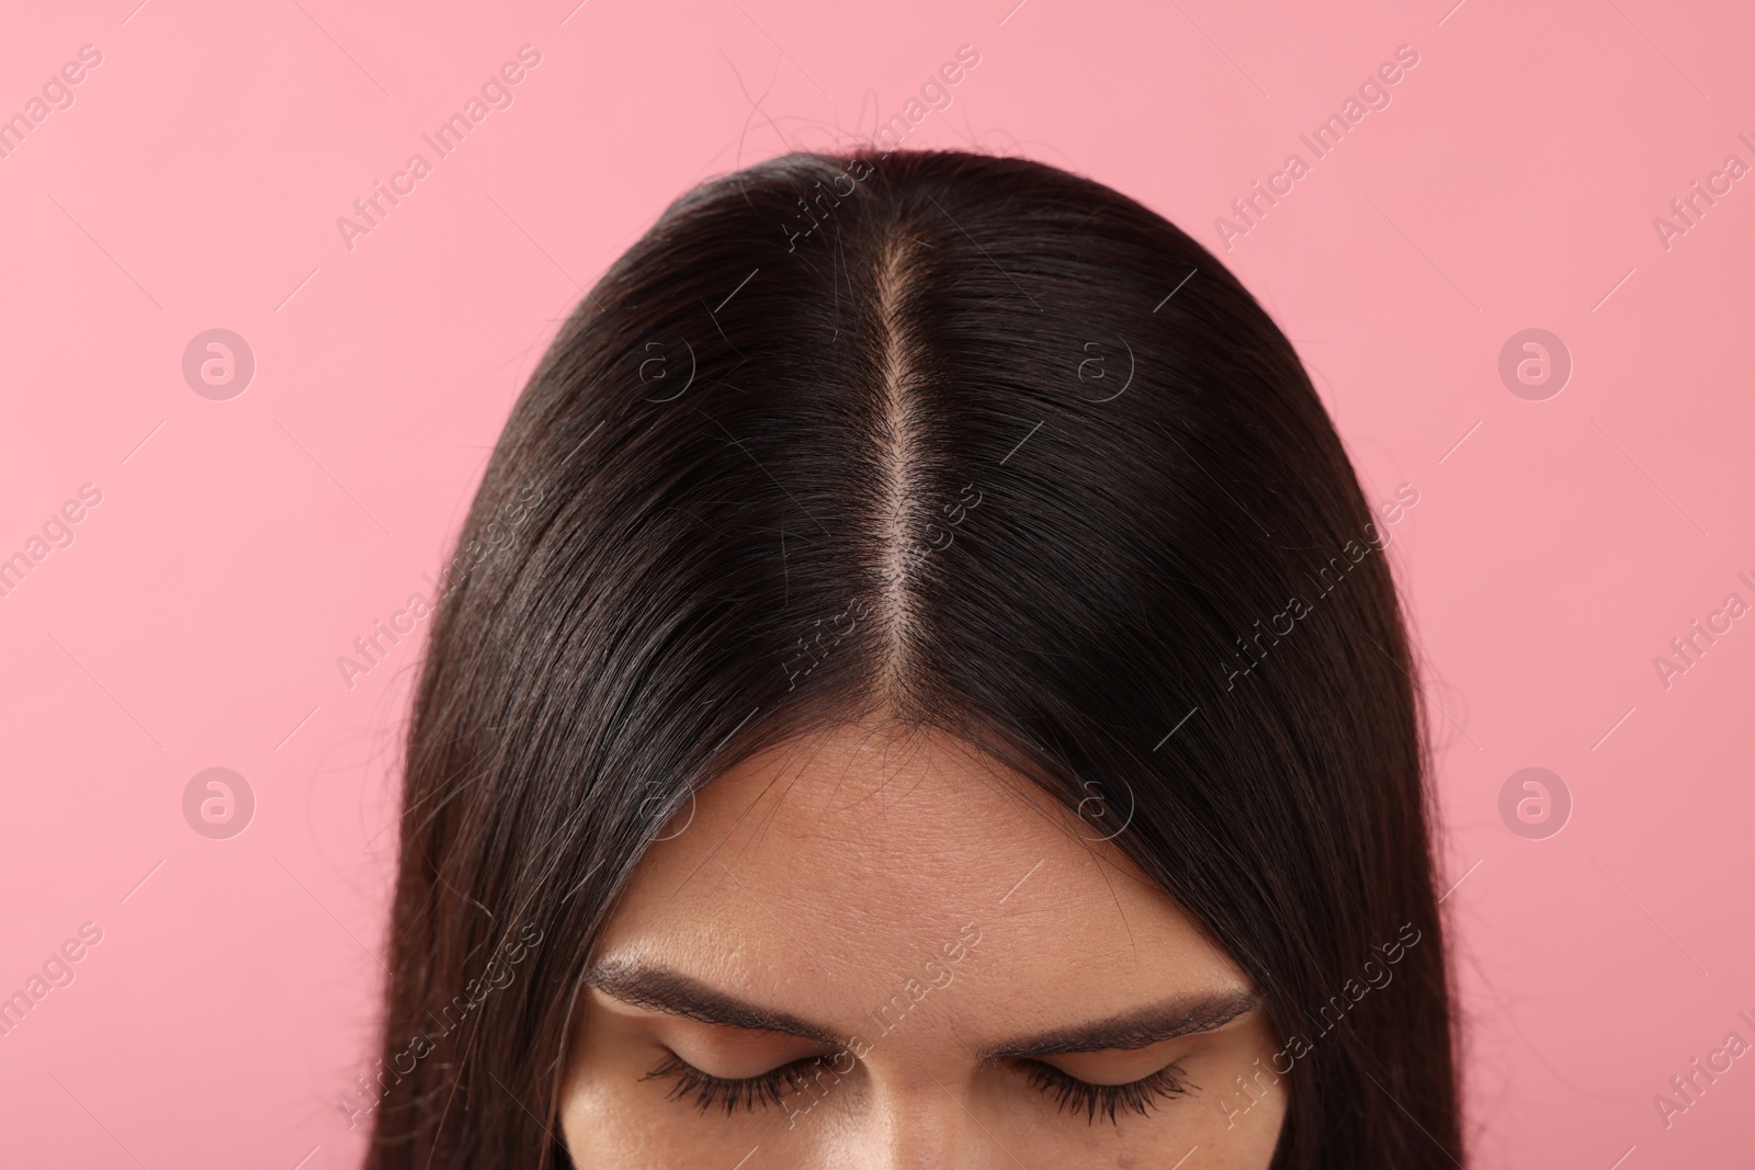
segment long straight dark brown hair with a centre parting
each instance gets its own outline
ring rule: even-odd
[[[1099,182],[927,151],[690,191],[532,374],[444,582],[369,1165],[569,1166],[642,851],[874,714],[1042,786],[1241,965],[1276,1170],[1460,1165],[1399,516],[1255,298]]]

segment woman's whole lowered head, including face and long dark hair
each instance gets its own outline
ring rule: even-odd
[[[1097,182],[697,188],[462,535],[374,1165],[1450,1165],[1416,500]]]

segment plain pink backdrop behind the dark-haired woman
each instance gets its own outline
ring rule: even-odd
[[[981,63],[906,146],[1071,167],[1218,247],[1367,495],[1420,491],[1390,556],[1448,712],[1476,1165],[1748,1156],[1755,1056],[1667,1130],[1651,1098],[1755,1042],[1755,621],[1669,689],[1651,660],[1755,602],[1755,177],[1669,249],[1653,218],[1755,165],[1755,16],[1014,2],[9,12],[0,114],[104,61],[0,158],[0,556],[104,498],[0,598],[0,995],[104,935],[0,1038],[0,1161],[356,1165],[335,1100],[370,1059],[418,647],[355,689],[335,658],[428,591],[556,317],[670,198],[869,135],[962,44]],[[337,216],[523,44],[514,105],[349,251]],[[1313,161],[1297,135],[1400,44],[1390,107]],[[1223,251],[1214,218],[1292,151],[1311,174]],[[258,367],[225,402],[181,372],[216,326]],[[1532,326],[1574,360],[1544,402],[1497,372]],[[230,840],[183,816],[216,765],[258,802]],[[1530,765],[1574,800],[1546,840],[1499,814]]]

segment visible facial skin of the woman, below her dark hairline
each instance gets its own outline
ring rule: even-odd
[[[1243,970],[1090,823],[965,746],[844,724],[727,772],[660,837],[579,991],[562,1091],[577,1166],[1272,1159],[1290,1082],[1267,1072],[1278,1045]],[[1155,1007],[1185,1035],[1143,1030]],[[1125,1035],[1065,1035],[1118,1017],[1135,1017]],[[1057,1033],[1107,1045],[1007,1054]],[[802,1061],[802,1079],[704,1112],[649,1075],[677,1058],[716,1077]],[[1100,1084],[1171,1067],[1185,1093],[1092,1117],[1032,1084],[1041,1065]]]

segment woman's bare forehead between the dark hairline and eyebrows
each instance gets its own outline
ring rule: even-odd
[[[958,970],[1013,1007],[1076,996],[1095,1016],[1244,984],[1088,823],[937,733],[844,724],[793,740],[718,777],[660,835],[598,956],[825,1021],[942,979],[960,951]]]

